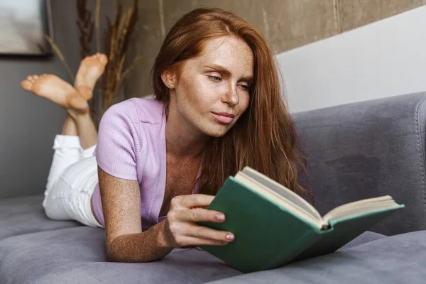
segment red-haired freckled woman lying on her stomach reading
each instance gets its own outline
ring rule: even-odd
[[[103,71],[106,59],[96,56],[97,64],[80,67],[77,77],[86,79],[75,88],[61,82],[60,91],[53,80],[43,88],[34,77],[23,87],[68,113],[55,138],[45,212],[104,227],[109,261],[155,261],[174,248],[233,241],[233,234],[196,222],[224,222],[224,214],[205,207],[246,165],[310,194],[297,182],[304,159],[271,50],[243,19],[221,9],[180,18],[155,59],[155,99],[109,108],[98,140],[82,101]],[[70,152],[75,158],[61,156]],[[57,165],[60,158],[67,163]]]

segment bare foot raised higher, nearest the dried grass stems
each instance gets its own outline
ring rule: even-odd
[[[77,75],[75,76],[74,87],[86,99],[92,99],[94,84],[104,73],[105,65],[108,63],[107,55],[97,53],[87,56],[80,63]]]

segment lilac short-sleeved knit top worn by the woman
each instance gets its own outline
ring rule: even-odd
[[[109,175],[138,180],[143,229],[165,219],[159,216],[165,194],[165,146],[164,106],[155,99],[127,99],[102,116],[93,155]],[[94,214],[105,227],[99,182],[92,196]]]

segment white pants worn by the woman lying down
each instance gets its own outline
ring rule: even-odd
[[[75,220],[86,226],[102,227],[90,208],[98,182],[94,148],[83,150],[78,136],[55,136],[55,153],[43,200],[45,214],[50,219]]]

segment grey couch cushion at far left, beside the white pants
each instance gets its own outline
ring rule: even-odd
[[[43,195],[0,200],[0,240],[36,231],[82,226],[74,221],[53,221],[45,216]]]

